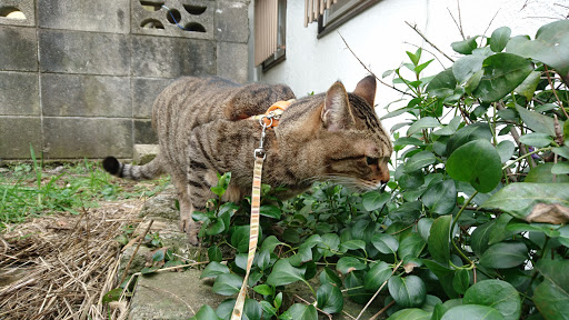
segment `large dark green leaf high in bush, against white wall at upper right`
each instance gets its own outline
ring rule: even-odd
[[[502,99],[516,89],[533,71],[531,61],[511,53],[496,53],[486,58],[485,74],[472,92],[485,102]]]

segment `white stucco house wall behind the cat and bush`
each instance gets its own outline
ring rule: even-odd
[[[417,50],[409,43],[436,52],[406,21],[417,24],[447,54],[458,57],[450,43],[461,40],[461,36],[449,10],[458,19],[457,0],[382,0],[337,30],[358,57],[380,77],[383,71],[399,67],[407,59],[405,51]],[[352,90],[358,80],[367,76],[367,71],[346,49],[338,32],[317,39],[317,23],[305,28],[303,11],[303,0],[288,1],[287,59],[267,72],[254,70],[251,80],[287,83],[298,97],[311,91],[326,91],[336,80],[341,80],[348,90]],[[467,37],[482,34],[487,29],[489,37],[498,27],[508,26],[512,29],[512,36],[529,34],[533,38],[540,26],[563,19],[569,13],[569,0],[461,0],[460,12]],[[437,56],[446,67],[450,66],[441,54]],[[431,54],[423,52],[422,61],[431,58]],[[432,74],[442,69],[437,61],[431,66],[437,66],[437,70],[429,68]],[[390,82],[390,79],[386,80]],[[378,114],[385,114],[383,107],[400,97],[400,93],[379,84],[376,94]],[[389,129],[396,121],[385,121],[383,126]]]

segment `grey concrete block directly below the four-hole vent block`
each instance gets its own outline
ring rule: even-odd
[[[216,43],[199,39],[133,36],[131,69],[137,77],[216,74]]]

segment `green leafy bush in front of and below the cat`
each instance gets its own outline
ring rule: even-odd
[[[543,26],[533,40],[510,33],[452,43],[462,56],[435,77],[423,77],[432,60],[421,62],[421,49],[385,73],[410,99],[383,118],[412,119],[392,128],[387,190],[325,183],[264,204],[272,213],[261,219],[248,319],[317,319],[376,293],[389,319],[567,319],[569,21]],[[197,216],[202,236],[236,258],[221,264],[212,247],[203,277],[231,297],[249,236],[247,217],[234,213],[249,208],[213,204]],[[283,299],[295,282],[315,304]],[[233,304],[204,307],[196,319],[229,319]]]

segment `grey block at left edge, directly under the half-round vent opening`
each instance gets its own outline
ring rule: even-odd
[[[37,71],[37,42],[36,29],[0,27],[0,70]]]

